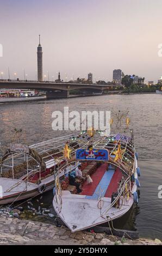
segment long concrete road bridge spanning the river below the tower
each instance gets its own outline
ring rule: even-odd
[[[122,86],[110,86],[107,84],[84,84],[69,82],[38,82],[27,80],[0,80],[0,89],[36,89],[46,92],[47,99],[69,97],[70,91],[79,90],[84,94],[103,93],[105,90],[121,89]]]

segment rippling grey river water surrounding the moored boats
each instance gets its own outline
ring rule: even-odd
[[[79,112],[129,109],[141,169],[140,199],[138,206],[134,205],[114,225],[138,230],[140,236],[162,239],[162,199],[158,198],[158,186],[162,185],[162,95],[105,95],[12,103],[0,99],[0,142],[10,143],[15,127],[23,129],[22,139],[28,144],[63,136],[67,131],[52,130],[52,112],[63,111],[64,106]],[[52,192],[43,195],[43,202],[52,207]]]

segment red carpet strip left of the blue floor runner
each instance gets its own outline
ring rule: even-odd
[[[107,166],[108,166],[107,163],[103,163],[101,166],[97,168],[96,172],[91,175],[91,178],[93,180],[92,184],[88,185],[87,182],[85,181],[82,186],[83,191],[80,194],[83,194],[86,196],[92,196],[92,194],[94,194],[96,187],[99,184],[99,181],[102,179],[105,171],[108,169]]]

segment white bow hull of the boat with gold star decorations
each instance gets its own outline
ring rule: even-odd
[[[125,200],[125,199],[124,199]],[[68,191],[63,191],[62,208],[59,211],[53,199],[53,207],[57,215],[72,231],[76,232],[87,228],[95,227],[96,225],[113,221],[126,214],[133,205],[133,198],[129,198],[128,202],[124,201],[121,209],[111,207],[108,212],[104,214],[111,204],[110,198],[103,198],[104,206],[98,209],[98,200],[86,199],[79,195],[70,195]]]

